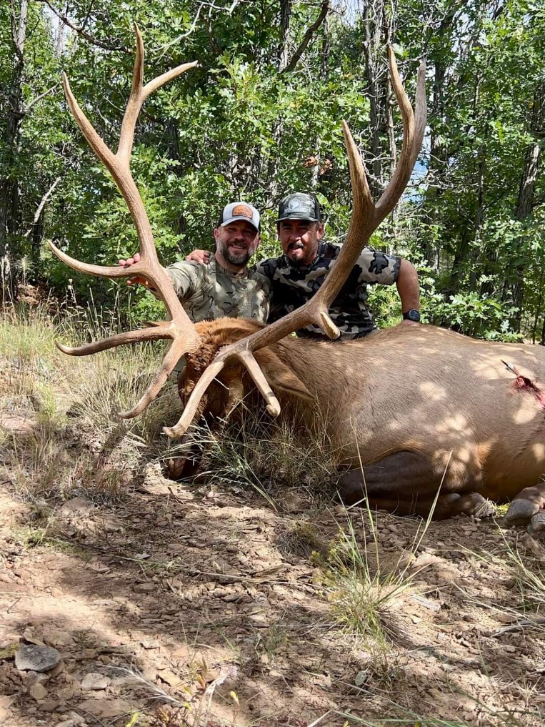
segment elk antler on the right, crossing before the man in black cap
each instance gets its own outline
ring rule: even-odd
[[[238,358],[246,366],[257,387],[265,396],[267,411],[273,414],[273,416],[276,416],[280,412],[278,400],[271,391],[265,374],[259,368],[253,352],[260,348],[265,348],[265,346],[275,343],[288,334],[309,324],[319,326],[329,338],[339,337],[339,329],[331,321],[328,314],[329,306],[339,293],[344,281],[347,280],[363,247],[368,244],[371,233],[376,230],[382,220],[384,220],[384,217],[394,209],[397,201],[403,194],[403,190],[405,190],[408,180],[411,177],[416,158],[419,155],[424,138],[424,129],[426,127],[426,66],[424,62],[421,63],[419,68],[415,111],[413,113],[413,108],[405,94],[405,89],[403,89],[403,84],[397,72],[394,52],[390,47],[388,48],[388,60],[392,87],[403,118],[403,148],[389,185],[384,190],[384,193],[382,193],[379,201],[375,204],[369,191],[360,153],[352,138],[350,129],[346,122],[343,121],[344,144],[347,148],[348,164],[350,166],[353,206],[347,238],[334,268],[328,274],[326,281],[315,296],[301,308],[297,308],[270,326],[266,326],[257,333],[251,334],[251,336],[226,346],[219,351],[191,393],[179,422],[174,427],[163,427],[164,433],[169,437],[179,437],[185,433],[185,430],[187,430],[187,427],[193,421],[198,403],[206,391],[206,387],[209,386],[212,379],[225,366],[228,359]]]

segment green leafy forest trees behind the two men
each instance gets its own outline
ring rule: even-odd
[[[130,90],[133,21],[145,79],[198,68],[156,92],[137,126],[132,170],[161,262],[209,247],[222,204],[263,211],[262,257],[278,254],[275,208],[315,193],[342,243],[350,183],[342,119],[375,195],[401,141],[389,84],[392,44],[413,98],[427,61],[429,121],[403,201],[372,244],[419,268],[429,322],[545,344],[540,174],[545,132],[545,4],[526,0],[10,0],[0,4],[0,265],[4,300],[39,284],[59,300],[132,321],[158,304],[124,284],[80,276],[52,257],[111,265],[137,249],[113,180],[76,127],[73,92],[116,148]],[[399,319],[377,288],[382,324]],[[154,310],[155,309],[155,310]]]

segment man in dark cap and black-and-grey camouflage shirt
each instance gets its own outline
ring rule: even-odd
[[[320,205],[310,194],[295,192],[280,200],[276,225],[283,254],[256,265],[257,272],[269,279],[272,288],[269,323],[300,308],[315,294],[342,249],[339,245],[323,241]],[[195,250],[188,258],[200,262],[207,260],[200,250]],[[329,315],[339,328],[342,339],[363,338],[376,331],[366,302],[367,286],[376,283],[395,283],[401,300],[403,323],[419,323],[419,281],[412,263],[366,247],[329,308]],[[312,325],[299,329],[297,335],[323,338],[323,332]]]

